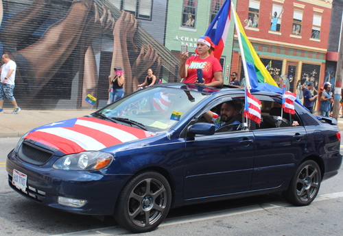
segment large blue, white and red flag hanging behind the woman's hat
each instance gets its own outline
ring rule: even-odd
[[[220,1],[220,0],[217,0]],[[213,1],[215,4],[215,1]],[[215,5],[212,6],[214,8]],[[220,60],[222,51],[225,46],[226,37],[228,36],[228,27],[230,26],[231,15],[231,1],[226,0],[222,8],[213,19],[209,29],[207,29],[205,36],[209,36],[213,44],[215,44],[215,51],[213,51],[213,57]]]

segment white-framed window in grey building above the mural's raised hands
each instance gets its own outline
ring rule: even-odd
[[[151,20],[152,0],[121,0],[121,10],[134,14],[136,18]]]

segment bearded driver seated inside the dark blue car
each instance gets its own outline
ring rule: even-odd
[[[217,114],[209,111],[204,114],[204,118],[210,123],[213,123],[215,125],[215,130],[220,129],[220,127],[227,126],[229,124],[237,124],[239,125],[239,116],[240,114],[237,114],[236,111],[236,105],[232,101],[227,101],[222,104],[222,108],[220,109],[220,116]],[[236,127],[237,128],[237,127]],[[233,127],[230,127],[228,131],[232,131]]]

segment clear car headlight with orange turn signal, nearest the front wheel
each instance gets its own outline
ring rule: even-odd
[[[65,155],[52,166],[58,170],[99,170],[106,168],[113,160],[113,155],[99,151],[88,151]]]

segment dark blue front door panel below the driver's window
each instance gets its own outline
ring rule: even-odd
[[[220,105],[223,101],[215,104]],[[186,137],[184,198],[249,191],[254,144],[252,131]]]

